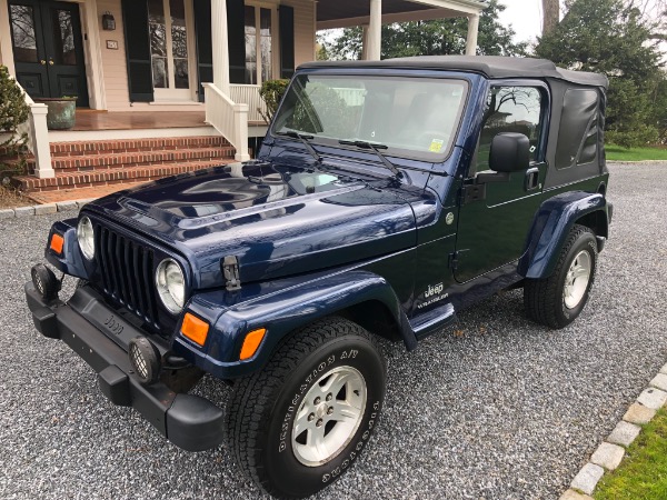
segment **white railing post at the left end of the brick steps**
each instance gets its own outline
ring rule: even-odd
[[[34,102],[19,82],[16,83],[23,91],[26,104],[30,108],[28,120],[17,128],[17,133],[28,136],[28,150],[34,156],[34,176],[39,178],[56,177],[56,171],[51,166],[51,148],[47,129],[49,108],[47,104]]]

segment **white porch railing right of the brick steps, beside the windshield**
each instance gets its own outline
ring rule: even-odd
[[[248,104],[237,104],[213,83],[202,86],[207,123],[215,127],[236,148],[237,161],[249,160]]]

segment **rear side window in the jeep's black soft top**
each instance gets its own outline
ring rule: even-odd
[[[563,102],[556,168],[567,169],[595,161],[598,148],[599,94],[569,89]]]

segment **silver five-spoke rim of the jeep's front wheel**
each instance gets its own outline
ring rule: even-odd
[[[292,424],[299,462],[318,467],[336,458],[359,429],[366,410],[366,380],[352,367],[329,370],[306,393]]]

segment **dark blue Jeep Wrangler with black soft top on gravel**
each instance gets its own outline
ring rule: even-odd
[[[53,224],[37,329],[186,450],[223,439],[269,493],[338,479],[382,409],[376,338],[408,351],[522,288],[550,328],[588,300],[611,218],[606,78],[537,59],[318,62],[257,160],[162,179]],[[231,386],[226,411],[188,391]]]

